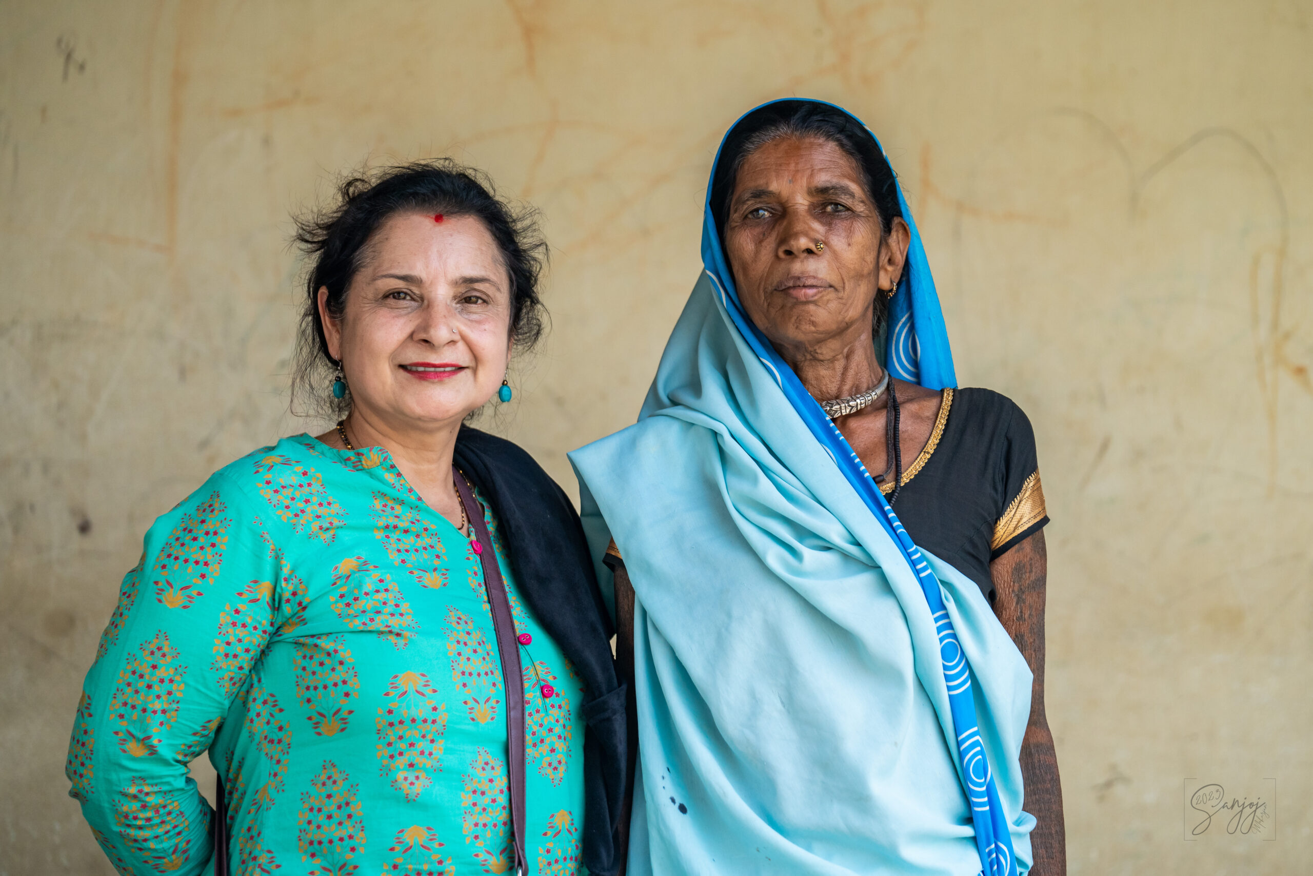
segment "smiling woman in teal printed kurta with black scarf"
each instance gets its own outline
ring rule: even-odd
[[[71,795],[135,876],[612,876],[625,690],[579,519],[528,453],[462,426],[509,401],[511,349],[541,330],[532,222],[429,163],[348,180],[299,230],[298,380],[341,419],[151,527]],[[218,814],[188,777],[206,750]]]

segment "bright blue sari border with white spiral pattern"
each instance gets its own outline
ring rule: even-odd
[[[825,101],[814,102],[819,104]],[[768,104],[763,104],[763,106],[765,105]],[[829,105],[834,106],[834,104]],[[756,109],[760,109],[760,106]],[[848,112],[842,106],[836,106],[836,109],[844,113]],[[852,116],[851,113],[848,114]],[[855,116],[852,118],[861,123],[861,120],[857,120]],[[735,122],[737,125],[738,122]],[[730,130],[733,130],[733,126]],[[871,129],[867,130],[869,133]],[[874,138],[874,134],[872,134],[872,138]],[[876,143],[878,144],[878,141]],[[718,150],[716,160],[720,162]],[[915,381],[931,389],[953,386],[956,385],[956,377],[953,374],[952,356],[948,352],[948,332],[944,328],[943,315],[939,311],[939,299],[935,296],[934,281],[930,276],[930,264],[926,260],[926,252],[920,243],[920,234],[916,231],[911,210],[903,200],[902,186],[898,190],[898,201],[903,209],[903,218],[911,229],[911,244],[907,252],[911,282],[909,282],[905,272],[898,290],[890,301],[889,318],[892,331],[889,334],[886,362],[890,373],[901,380]],[[874,479],[867,471],[867,466],[857,458],[847,439],[843,437],[843,433],[834,422],[826,416],[821,405],[802,386],[802,381],[793,373],[793,369],[788,366],[775,351],[775,347],[771,345],[760,330],[743,313],[743,307],[738,301],[738,293],[734,289],[734,274],[729,271],[729,264],[721,250],[720,235],[716,232],[716,218],[710,204],[710,186],[708,186],[702,221],[702,264],[720,293],[725,310],[730,314],[743,339],[756,353],[758,359],[771,370],[771,374],[784,391],[785,398],[789,399],[793,410],[798,412],[802,422],[807,424],[811,433],[821,441],[821,447],[826,449],[839,466],[839,470],[843,471],[844,477],[857,491],[857,495],[861,496],[874,517],[899,546],[907,565],[915,573],[939,633],[940,661],[944,670],[944,683],[948,687],[948,707],[953,718],[953,729],[957,733],[962,787],[972,806],[976,847],[979,851],[982,865],[981,873],[987,876],[1019,876],[1007,816],[1003,812],[998,789],[994,787],[989,756],[985,753],[979,725],[976,718],[970,666],[966,662],[961,642],[957,640],[957,633],[953,630],[952,620],[944,605],[939,579],[935,578],[930,563],[926,562],[920,550],[913,544],[907,531],[898,520],[898,515],[894,514],[893,507],[885,500],[880,487],[876,486]],[[914,286],[919,286],[919,289],[914,289]],[[932,318],[926,313],[931,310],[930,303],[934,305]],[[919,315],[924,318],[918,319],[918,314],[914,313],[916,307],[922,309],[923,313]],[[922,353],[927,351],[932,353],[930,362],[926,362],[922,357]],[[923,365],[926,364],[930,366],[924,368]],[[948,382],[944,382],[945,380]]]

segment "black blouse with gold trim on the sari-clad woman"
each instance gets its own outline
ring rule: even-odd
[[[990,561],[1049,521],[1031,420],[993,390],[944,390],[930,441],[902,483],[894,512],[907,535],[987,599]],[[893,486],[881,490],[888,495]]]

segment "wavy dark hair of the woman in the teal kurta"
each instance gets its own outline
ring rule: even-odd
[[[377,234],[398,213],[473,215],[496,243],[511,285],[511,338],[523,355],[542,338],[548,311],[538,281],[548,263],[548,244],[538,229],[538,211],[499,198],[482,171],[452,159],[415,162],[361,171],[341,179],[330,205],[294,217],[294,243],[307,257],[305,306],[293,360],[291,398],[311,415],[339,419],[351,411],[351,390],[337,399],[331,391],[337,360],[328,353],[319,317],[319,289],[328,289],[328,314],[339,319],[347,292]]]

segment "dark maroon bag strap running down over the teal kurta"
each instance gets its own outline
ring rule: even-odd
[[[502,678],[506,686],[506,735],[507,770],[511,779],[511,833],[515,844],[515,872],[528,872],[528,859],[524,856],[524,671],[520,667],[520,644],[515,634],[515,620],[511,616],[511,602],[506,595],[506,582],[496,563],[492,538],[488,535],[483,512],[474,500],[470,485],[454,465],[452,475],[456,490],[465,506],[465,516],[474,525],[478,540],[473,541],[474,552],[483,563],[483,587],[488,594],[488,608],[492,612],[492,628],[496,630],[496,647],[502,655]]]

